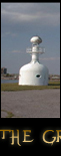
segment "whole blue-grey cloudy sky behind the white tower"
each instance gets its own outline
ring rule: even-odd
[[[60,3],[1,3],[1,67],[8,73],[18,74],[31,61],[26,49],[35,35],[45,47],[40,63],[60,75]]]

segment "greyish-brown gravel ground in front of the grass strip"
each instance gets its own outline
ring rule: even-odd
[[[60,89],[2,91],[1,118],[60,118]]]

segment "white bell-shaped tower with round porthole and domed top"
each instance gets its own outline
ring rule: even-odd
[[[42,39],[39,36],[34,36],[30,42],[32,43],[32,48],[28,48],[27,52],[32,55],[32,60],[20,68],[19,85],[48,85],[48,69],[39,62],[39,54],[44,53],[44,49],[39,47]]]

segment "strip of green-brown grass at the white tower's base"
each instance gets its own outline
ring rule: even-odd
[[[60,81],[50,81],[48,86],[19,86],[18,83],[1,84],[1,91],[22,91],[41,89],[60,89]]]

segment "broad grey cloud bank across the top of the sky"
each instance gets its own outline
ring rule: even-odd
[[[59,3],[2,3],[1,16],[8,23],[39,22],[57,26],[60,23]]]

